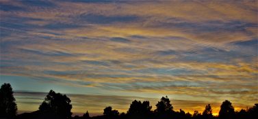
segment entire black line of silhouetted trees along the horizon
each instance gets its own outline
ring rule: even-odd
[[[218,116],[212,114],[211,105],[204,111],[185,113],[183,109],[173,110],[168,97],[162,97],[152,110],[149,101],[133,101],[127,113],[119,113],[112,107],[105,107],[102,116],[90,117],[87,111],[83,116],[72,116],[72,105],[66,95],[50,90],[38,111],[17,115],[17,106],[13,96],[12,86],[3,84],[0,88],[0,119],[255,119],[258,118],[258,103],[249,109],[236,112],[230,101],[223,101]]]

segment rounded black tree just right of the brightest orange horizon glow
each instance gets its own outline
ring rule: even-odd
[[[231,102],[226,100],[220,106],[219,118],[220,119],[232,119],[234,118],[235,110],[231,105]]]

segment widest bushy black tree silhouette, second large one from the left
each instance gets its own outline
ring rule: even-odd
[[[52,114],[57,118],[70,118],[72,113],[72,105],[70,105],[70,99],[66,95],[55,93],[50,90],[47,97],[44,99],[39,107],[40,111],[45,114]]]

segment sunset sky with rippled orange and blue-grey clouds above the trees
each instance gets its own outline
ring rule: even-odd
[[[0,1],[0,84],[18,113],[36,111],[49,90],[73,114],[153,109],[216,115],[258,102],[257,1]]]

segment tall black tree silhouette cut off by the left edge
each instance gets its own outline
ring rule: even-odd
[[[10,84],[3,84],[0,88],[0,118],[14,118],[17,106]]]

